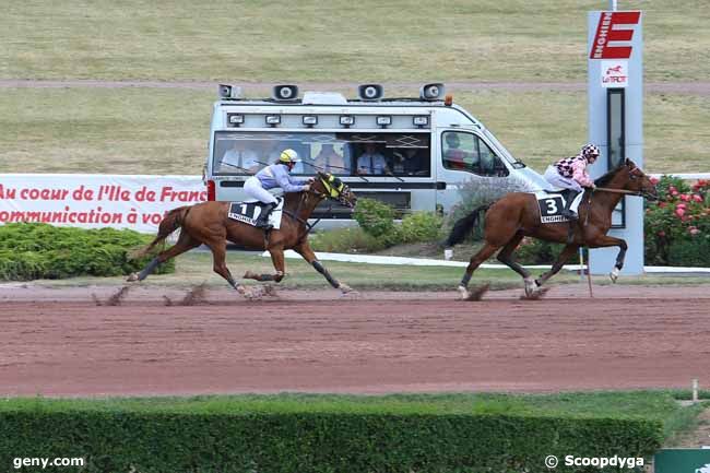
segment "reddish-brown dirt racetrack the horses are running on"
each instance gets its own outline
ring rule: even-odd
[[[710,291],[450,293],[0,286],[0,395],[555,391],[710,383]]]

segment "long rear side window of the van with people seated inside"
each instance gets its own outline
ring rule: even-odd
[[[322,170],[340,176],[431,176],[429,132],[416,131],[217,131],[212,174],[252,175],[277,162],[287,149],[300,158],[293,175]]]

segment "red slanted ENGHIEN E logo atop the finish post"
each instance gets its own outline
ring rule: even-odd
[[[596,25],[590,59],[628,59],[631,46],[615,46],[615,42],[630,42],[634,28],[638,25],[641,12],[602,12]]]

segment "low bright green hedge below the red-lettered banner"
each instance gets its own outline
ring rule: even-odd
[[[141,270],[153,256],[129,259],[131,249],[146,245],[151,235],[130,229],[82,229],[42,223],[0,226],[0,280],[31,281],[82,275],[116,276]],[[175,271],[175,262],[157,272]]]

